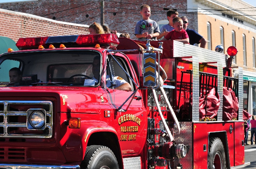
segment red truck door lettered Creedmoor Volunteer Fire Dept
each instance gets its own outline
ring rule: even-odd
[[[130,71],[132,69],[130,69],[129,64],[127,64],[127,59],[121,57],[115,57],[115,59],[121,64],[130,77],[134,79],[134,72]],[[117,90],[115,89],[115,84],[111,81],[111,86],[107,88],[106,92],[109,105],[115,109],[113,125],[118,133],[122,153],[136,154],[142,150],[142,144],[147,134],[147,125],[145,125],[147,124],[146,110],[143,105],[141,90],[137,90],[135,93],[136,97],[132,99],[131,95],[134,90],[136,90],[136,86],[118,63],[111,57],[107,59],[106,80],[112,79],[113,77],[124,79],[131,84],[132,90]],[[129,100],[126,101],[128,98]],[[117,111],[121,105],[123,105],[121,110]]]

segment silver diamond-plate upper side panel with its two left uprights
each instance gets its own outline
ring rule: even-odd
[[[184,44],[174,41],[174,57],[192,56],[186,58],[193,64],[193,103],[192,103],[192,121],[199,120],[199,62],[217,62],[209,63],[217,66],[218,69],[218,92],[223,96],[223,67],[226,67],[226,54],[215,52],[208,49]],[[223,97],[220,97],[220,108],[218,110],[218,119],[222,120]],[[240,111],[240,110],[239,110]]]

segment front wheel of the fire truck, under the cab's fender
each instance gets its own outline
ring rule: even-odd
[[[114,153],[105,146],[93,145],[86,148],[81,169],[119,169]]]

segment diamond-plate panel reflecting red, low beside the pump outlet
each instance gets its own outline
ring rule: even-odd
[[[179,135],[174,134],[175,142],[177,144],[184,144],[189,147],[189,151],[186,154],[186,157],[175,159],[174,166],[177,166],[178,163],[182,164],[183,169],[192,169],[193,167],[193,137],[192,137],[192,124],[193,122],[180,122],[180,133]],[[172,124],[173,125],[173,124]],[[174,132],[178,133],[178,129],[174,128]]]

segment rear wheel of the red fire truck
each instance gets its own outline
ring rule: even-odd
[[[226,169],[225,151],[218,137],[209,140],[208,169]]]

